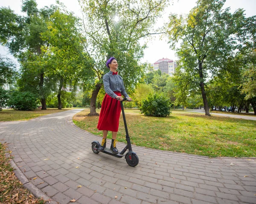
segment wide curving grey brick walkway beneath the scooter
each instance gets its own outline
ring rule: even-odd
[[[79,111],[0,123],[0,141],[9,143],[18,178],[51,204],[256,203],[256,158],[210,159],[133,147],[140,163],[130,167],[124,158],[92,152],[91,142],[101,138],[73,124]]]

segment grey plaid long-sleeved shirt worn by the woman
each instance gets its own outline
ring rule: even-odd
[[[113,72],[109,71],[103,76],[103,84],[105,92],[110,97],[116,98],[117,95],[114,92],[121,92],[123,96],[129,97],[125,92],[125,86],[121,76],[113,75]]]

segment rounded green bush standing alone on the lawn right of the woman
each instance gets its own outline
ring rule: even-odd
[[[142,101],[140,111],[144,115],[153,115],[155,117],[166,117],[171,114],[171,103],[169,98],[164,95],[150,94],[148,98]]]

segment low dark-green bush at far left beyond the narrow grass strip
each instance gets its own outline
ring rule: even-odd
[[[11,93],[9,106],[14,106],[16,110],[35,110],[38,105],[37,97],[30,92],[18,92]]]

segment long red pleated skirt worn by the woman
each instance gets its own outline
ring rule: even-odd
[[[114,92],[116,95],[121,96],[120,92]],[[120,101],[105,94],[102,101],[102,108],[99,114],[99,122],[97,128],[99,130],[108,130],[117,132],[119,127],[119,118],[121,114]]]

